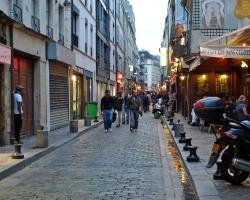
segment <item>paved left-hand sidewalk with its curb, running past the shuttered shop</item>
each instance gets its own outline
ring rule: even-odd
[[[102,124],[102,120],[100,120],[100,122],[92,122],[91,126],[84,127],[76,133],[70,133],[69,126],[51,131],[48,136],[49,145],[47,148],[36,148],[35,136],[25,137],[22,139],[23,144],[21,149],[24,159],[11,158],[11,155],[14,152],[13,145],[0,147],[0,180],[23,169],[30,163],[54,151],[63,144],[68,143],[85,132],[99,126],[100,124]]]

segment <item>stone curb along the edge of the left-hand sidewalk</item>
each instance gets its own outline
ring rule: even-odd
[[[3,170],[2,172],[0,172],[0,181],[22,169],[24,169],[26,166],[30,165],[31,163],[35,162],[36,160],[42,158],[43,156],[53,152],[54,150],[60,148],[61,146],[71,142],[72,140],[74,140],[77,137],[80,137],[81,135],[83,135],[84,133],[87,133],[88,131],[97,128],[98,126],[100,126],[103,123],[103,121],[100,121],[98,123],[96,123],[93,126],[89,126],[87,127],[85,130],[78,132],[76,135],[72,136],[71,138],[67,138],[64,139],[62,141],[56,142],[51,144],[49,147],[43,149],[42,151],[32,155],[29,158],[24,158],[23,160],[21,160],[19,163],[14,164],[13,166]]]

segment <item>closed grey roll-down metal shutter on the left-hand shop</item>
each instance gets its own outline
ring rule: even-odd
[[[69,125],[68,68],[50,64],[50,126],[55,130]]]

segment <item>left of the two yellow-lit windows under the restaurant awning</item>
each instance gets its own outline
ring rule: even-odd
[[[210,78],[207,74],[197,75],[195,77],[194,93],[196,96],[207,96],[210,94]]]

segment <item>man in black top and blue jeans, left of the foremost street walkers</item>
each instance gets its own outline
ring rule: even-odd
[[[112,120],[114,108],[114,98],[110,95],[110,91],[106,90],[104,97],[101,99],[101,111],[103,112],[105,132],[112,132]]]

